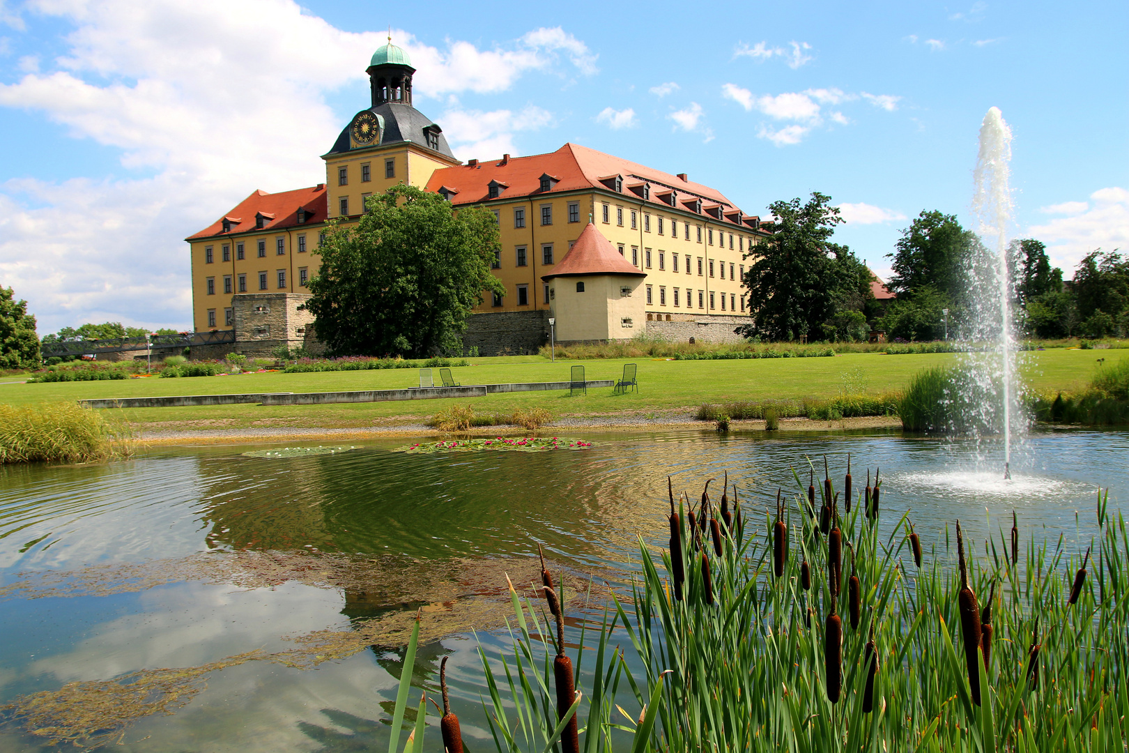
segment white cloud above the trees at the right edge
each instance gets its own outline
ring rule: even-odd
[[[1129,191],[1100,189],[1089,201],[1067,201],[1043,207],[1048,214],[1067,214],[1029,227],[1024,235],[1047,244],[1051,262],[1070,278],[1082,257],[1101,248],[1129,248]]]

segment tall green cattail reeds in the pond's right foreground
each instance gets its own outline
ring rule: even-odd
[[[981,631],[975,645],[962,638],[970,633],[947,533],[926,542],[918,567],[904,516],[881,536],[863,492],[824,536],[796,481],[780,577],[771,541],[779,526],[765,513],[760,527],[747,505],[732,528],[721,525],[719,546],[682,523],[685,502],[669,516],[671,550],[640,540],[641,575],[629,598],[614,599],[603,624],[586,623],[579,648],[574,643],[578,685],[580,662],[595,664],[574,707],[584,751],[613,750],[616,729],[634,734],[632,751],[1126,750],[1129,532],[1123,516],[1106,515],[1108,493],[1091,529],[1091,561],[1100,564],[1089,577],[1078,575],[1082,558],[1061,539],[1030,536],[1016,563],[1003,531],[971,548],[968,587],[990,607],[989,654]],[[833,484],[820,493],[834,506]],[[701,517],[706,509],[703,500]],[[837,532],[846,544],[839,568],[828,546]],[[811,590],[800,563],[811,568]],[[679,573],[684,580],[672,584]],[[482,653],[484,703],[499,751],[548,751],[559,720],[550,690],[557,649],[545,638],[552,629],[513,586],[511,597],[513,659],[504,656],[499,668]],[[613,631],[627,637],[619,656],[609,647]],[[642,669],[632,674],[630,665]],[[623,703],[646,713],[638,721],[618,713]]]

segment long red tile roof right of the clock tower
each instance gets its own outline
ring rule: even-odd
[[[541,176],[550,175],[558,182],[548,192],[541,191]],[[457,191],[452,195],[452,203],[473,204],[489,201],[489,185],[491,182],[501,184],[505,190],[499,199],[511,199],[514,196],[537,196],[562,191],[578,191],[586,189],[607,189],[603,181],[614,178],[616,175],[623,177],[623,194],[632,201],[642,201],[641,186],[650,184],[650,198],[647,204],[656,209],[665,207],[673,209],[669,201],[660,200],[660,196],[669,196],[673,190],[677,194],[679,209],[685,209],[686,203],[692,203],[698,199],[703,204],[723,205],[726,212],[735,213],[737,210],[720,191],[711,189],[700,183],[683,181],[682,178],[656,170],[628,159],[605,155],[602,151],[581,147],[576,143],[566,143],[557,151],[545,155],[533,155],[531,157],[509,157],[500,160],[472,160],[466,165],[457,167],[445,167],[431,174],[428,181],[428,191],[438,191],[446,187],[448,191]],[[632,187],[639,187],[639,193]],[[715,218],[710,218],[715,219]],[[736,225],[736,214],[726,218],[725,221]],[[751,217],[745,217],[747,222]],[[715,219],[715,221],[717,221]],[[742,226],[746,227],[747,226]]]

